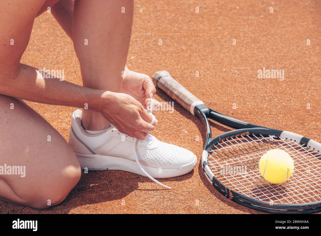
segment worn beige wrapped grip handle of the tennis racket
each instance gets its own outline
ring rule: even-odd
[[[194,115],[196,105],[204,104],[193,93],[174,80],[166,70],[157,71],[153,75],[153,83],[192,113],[192,115]]]

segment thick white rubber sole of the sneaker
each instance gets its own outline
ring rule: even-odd
[[[99,154],[82,154],[76,153],[78,161],[82,170],[88,168],[88,170],[124,170],[138,175],[146,176],[138,167],[137,163],[132,160],[128,160],[121,157],[105,156]],[[166,169],[150,167],[141,164],[143,169],[150,174],[153,178],[171,178],[180,175],[185,175],[196,165],[197,158],[194,156],[194,160],[188,164],[181,166],[179,169]]]

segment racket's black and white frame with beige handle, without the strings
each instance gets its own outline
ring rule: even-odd
[[[233,202],[239,205],[246,206],[248,208],[277,214],[300,214],[300,213],[315,213],[321,211],[321,201],[305,204],[283,204],[283,203],[271,203],[262,200],[258,200],[246,195],[240,194],[237,191],[225,186],[219,179],[217,179],[208,166],[208,152],[211,147],[221,142],[221,140],[238,137],[240,135],[248,135],[250,137],[263,136],[273,137],[275,139],[284,139],[286,141],[294,141],[300,143],[303,147],[311,147],[316,150],[317,153],[321,152],[321,144],[318,142],[306,138],[302,135],[298,135],[288,131],[282,131],[278,129],[272,129],[263,126],[253,125],[235,118],[225,116],[207,106],[198,99],[194,94],[189,92],[185,87],[179,84],[173,79],[167,71],[158,71],[153,76],[154,84],[167,93],[171,98],[182,105],[192,115],[195,115],[202,122],[206,130],[206,139],[204,142],[204,148],[202,153],[202,168],[205,177],[212,183],[213,187],[218,190],[222,195],[227,197]],[[212,132],[210,123],[207,118],[213,119],[223,125],[234,128],[212,138]]]

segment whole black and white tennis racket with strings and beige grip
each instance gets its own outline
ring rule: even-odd
[[[221,194],[262,212],[321,211],[321,144],[292,132],[225,116],[205,106],[167,71],[156,72],[153,83],[201,120],[206,130],[203,171]],[[212,138],[207,118],[236,130]],[[286,151],[294,162],[291,178],[282,184],[266,181],[258,167],[261,156],[271,149]]]

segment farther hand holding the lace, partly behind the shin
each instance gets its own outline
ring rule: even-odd
[[[139,101],[144,108],[150,102],[150,98],[156,93],[152,79],[142,73],[134,72],[125,68],[121,92],[131,95]],[[155,100],[155,110],[161,109],[161,103]]]

